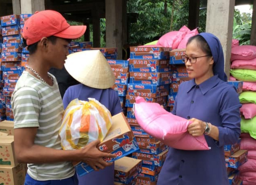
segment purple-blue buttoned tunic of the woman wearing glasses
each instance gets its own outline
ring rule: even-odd
[[[158,185],[228,185],[223,146],[236,143],[240,135],[240,112],[236,90],[215,75],[196,85],[180,84],[173,114],[197,118],[219,128],[219,141],[205,136],[208,151],[169,148]]]

